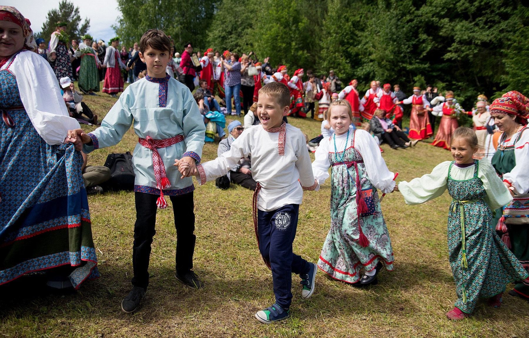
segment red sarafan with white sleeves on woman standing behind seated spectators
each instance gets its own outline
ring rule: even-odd
[[[421,91],[421,88],[414,87],[413,90]],[[405,105],[412,104],[412,112],[409,116],[409,137],[414,139],[424,139],[433,134],[430,118],[426,113],[426,108],[430,107],[430,102],[428,102],[425,95],[414,94],[398,103]]]

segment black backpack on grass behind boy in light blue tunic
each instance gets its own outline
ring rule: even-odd
[[[134,166],[132,154],[108,154],[105,167],[110,168],[110,180],[104,183],[104,189],[108,190],[134,190]]]

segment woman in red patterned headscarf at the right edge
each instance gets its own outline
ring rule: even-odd
[[[505,233],[501,239],[529,271],[529,99],[509,91],[489,109],[502,132],[492,166],[514,196],[513,202],[496,210],[496,230]],[[519,281],[509,295],[529,300],[529,278]]]

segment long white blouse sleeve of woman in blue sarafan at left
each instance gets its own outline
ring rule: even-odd
[[[2,69],[5,69],[6,62]],[[39,54],[21,51],[9,70],[15,75],[20,98],[37,133],[49,145],[61,144],[68,130],[80,128],[70,117],[59,90],[59,83],[48,61]]]

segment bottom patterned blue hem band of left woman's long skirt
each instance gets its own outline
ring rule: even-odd
[[[83,266],[81,262],[85,261]],[[96,249],[81,246],[80,251],[70,252],[63,251],[26,260],[17,264],[12,268],[0,270],[0,285],[8,283],[20,276],[29,274],[35,271],[42,271],[51,268],[56,268],[63,265],[79,266],[70,274],[71,284],[75,289],[78,289],[83,281],[99,278],[99,271],[97,270],[97,256]]]

